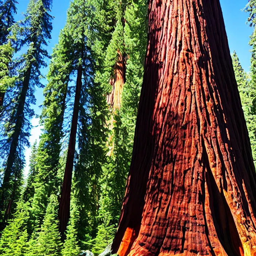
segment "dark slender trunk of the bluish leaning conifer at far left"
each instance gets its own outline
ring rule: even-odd
[[[10,146],[9,155],[7,158],[6,168],[4,171],[4,178],[3,178],[3,183],[2,183],[2,195],[1,195],[2,207],[4,207],[5,200],[11,200],[8,198],[8,195],[6,195],[6,193],[7,193],[7,190],[9,189],[9,181],[12,176],[12,167],[13,167],[13,163],[15,161],[18,142],[19,142],[19,136],[20,136],[20,132],[22,129],[22,125],[23,125],[24,105],[25,105],[28,88],[29,88],[30,75],[31,75],[31,68],[28,68],[27,72],[25,73],[25,78],[23,81],[23,86],[21,89],[20,97],[19,97],[19,104],[18,104],[17,113],[16,113],[15,128],[14,128],[14,132],[11,137],[11,146]],[[11,205],[11,204],[8,203],[8,205]]]

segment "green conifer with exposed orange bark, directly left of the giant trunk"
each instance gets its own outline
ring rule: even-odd
[[[105,212],[111,216],[112,234],[119,219],[132,154],[147,43],[146,17],[146,1],[122,2],[116,12],[115,30],[106,50],[104,73],[100,78],[110,94],[107,96],[109,152],[99,180],[103,197],[99,216],[104,216]],[[112,77],[110,83],[109,77]],[[99,223],[102,230],[104,225],[101,221]]]

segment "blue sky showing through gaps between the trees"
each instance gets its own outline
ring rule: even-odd
[[[29,0],[18,0],[19,4],[17,4],[17,15],[16,20],[22,19],[24,13],[27,8]],[[48,52],[52,52],[52,48],[58,42],[58,36],[60,29],[64,27],[65,20],[67,18],[67,9],[69,6],[69,0],[53,0],[53,8],[52,8],[52,16],[53,19],[53,30],[52,30],[52,40],[48,45]],[[228,35],[229,48],[231,53],[235,50],[241,65],[245,69],[245,71],[249,71],[250,66],[250,58],[251,53],[249,52],[250,47],[248,45],[249,36],[252,33],[252,28],[246,24],[247,21],[247,13],[243,12],[242,9],[248,3],[248,0],[220,0],[226,31]],[[47,69],[43,70],[43,74],[47,73]],[[43,90],[36,90],[36,99],[37,103],[34,106],[36,114],[40,114],[39,105],[43,102]],[[31,131],[30,142],[33,143],[36,139],[39,140],[40,135],[40,126],[39,120],[36,118],[32,119],[33,129]],[[29,148],[26,149],[25,158],[26,158],[26,168],[25,173],[28,171],[28,160],[31,150]]]

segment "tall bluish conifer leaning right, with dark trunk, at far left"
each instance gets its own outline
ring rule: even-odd
[[[29,119],[33,110],[29,105],[35,103],[35,86],[40,83],[40,68],[45,67],[45,57],[48,57],[44,46],[51,38],[51,0],[31,0],[23,20],[12,26],[12,44],[16,51],[27,46],[27,51],[15,59],[15,90],[12,104],[9,106],[5,123],[5,137],[9,145],[8,157],[5,163],[3,183],[1,187],[1,209],[5,208],[10,199],[9,183],[13,178],[13,166],[17,158],[22,159],[24,145],[29,145],[28,136],[31,124]],[[8,109],[7,109],[8,112]],[[8,216],[5,216],[5,219]]]

